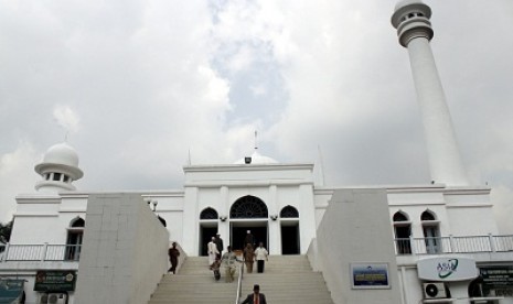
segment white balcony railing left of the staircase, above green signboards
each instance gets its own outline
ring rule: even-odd
[[[0,245],[0,262],[78,261],[81,245]]]

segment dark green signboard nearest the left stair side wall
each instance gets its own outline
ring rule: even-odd
[[[75,270],[40,270],[35,274],[34,291],[66,292],[75,291]]]

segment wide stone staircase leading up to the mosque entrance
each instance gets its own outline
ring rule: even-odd
[[[238,273],[238,271],[237,271]],[[237,278],[235,278],[237,280]],[[333,304],[324,279],[313,272],[306,256],[270,256],[264,273],[244,273],[242,300],[259,284],[268,303]],[[215,281],[205,257],[188,257],[180,273],[165,274],[149,304],[234,304],[237,282],[225,283],[224,268]]]

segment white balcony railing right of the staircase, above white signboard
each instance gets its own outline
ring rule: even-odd
[[[397,238],[396,254],[439,254],[513,251],[513,236]]]

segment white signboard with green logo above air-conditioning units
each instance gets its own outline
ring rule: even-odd
[[[474,260],[458,257],[423,259],[417,268],[418,278],[428,281],[466,281],[479,274]]]

